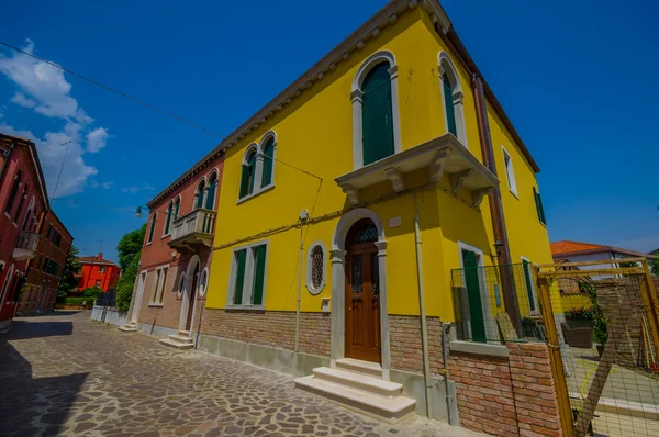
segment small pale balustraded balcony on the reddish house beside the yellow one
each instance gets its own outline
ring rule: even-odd
[[[174,221],[169,247],[178,251],[194,251],[199,245],[211,247],[215,211],[197,209]]]

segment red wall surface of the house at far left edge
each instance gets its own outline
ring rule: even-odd
[[[0,152],[8,149],[11,141],[3,136],[1,138]],[[2,163],[0,161],[0,168]],[[9,200],[9,193],[18,172],[22,170],[22,182],[19,188],[18,194],[12,204],[11,214],[8,217],[4,213],[7,202]],[[46,211],[47,204],[45,203],[41,178],[35,163],[32,158],[31,148],[24,144],[24,141],[16,141],[16,147],[11,150],[11,155],[8,158],[7,167],[0,179],[0,261],[4,262],[2,271],[0,272],[0,324],[11,320],[16,306],[16,300],[19,298],[19,291],[14,292],[14,284],[20,278],[25,276],[25,269],[27,261],[15,261],[12,258],[13,249],[15,247],[19,235],[25,224],[25,231],[34,232],[38,225],[38,220],[42,217],[42,213]],[[21,211],[19,211],[18,220],[14,225],[14,216],[16,209],[20,204],[20,195],[24,195]],[[31,200],[34,198],[33,208],[27,214]],[[27,217],[27,222],[25,222]],[[2,265],[0,262],[0,265]],[[13,267],[13,268],[12,268]],[[9,285],[4,295],[2,295],[2,288],[4,285],[9,271],[12,270],[12,278],[9,278]],[[16,274],[16,272],[19,272]]]

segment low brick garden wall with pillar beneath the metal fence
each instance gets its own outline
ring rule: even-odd
[[[451,355],[460,425],[495,436],[562,436],[547,345],[506,346],[507,358]]]

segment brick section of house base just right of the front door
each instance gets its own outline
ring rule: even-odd
[[[428,324],[428,352],[431,374],[439,374],[444,366],[442,356],[442,322],[426,317]],[[391,368],[414,373],[423,372],[421,347],[421,318],[412,315],[389,315],[389,344]]]

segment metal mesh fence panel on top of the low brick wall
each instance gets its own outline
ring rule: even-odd
[[[545,341],[537,278],[530,264],[454,269],[451,290],[460,340]]]

